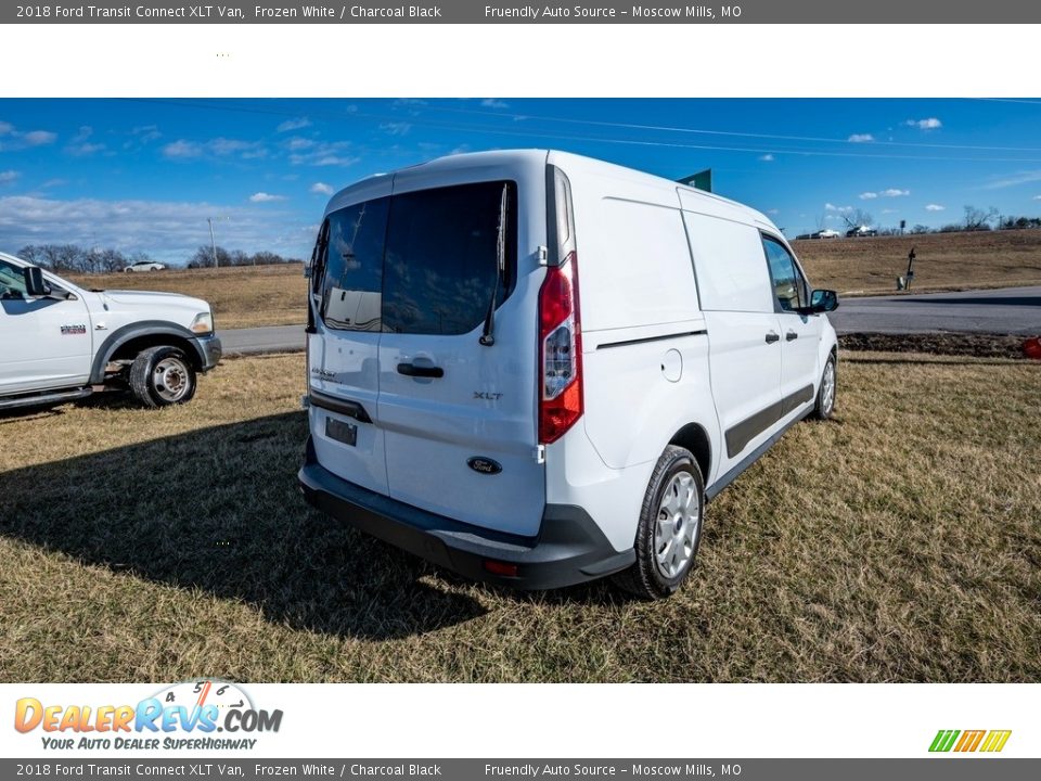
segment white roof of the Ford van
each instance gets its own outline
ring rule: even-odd
[[[717,195],[716,193],[709,193],[705,192],[704,190],[690,188],[685,184],[680,184],[679,182],[671,181],[664,177],[640,171],[634,168],[616,165],[614,163],[607,163],[606,161],[597,159],[595,157],[587,157],[584,155],[574,154],[571,152],[547,149],[493,150],[488,152],[466,152],[462,154],[447,155],[445,157],[437,157],[425,163],[419,163],[416,165],[399,168],[398,170],[390,171],[388,174],[376,174],[375,176],[367,177],[365,179],[355,182],[354,184],[350,184],[337,192],[330,200],[330,205],[332,205],[333,202],[340,202],[343,196],[349,194],[351,191],[363,189],[373,181],[390,175],[402,174],[406,177],[409,177],[410,175],[415,174],[436,174],[439,170],[483,168],[489,165],[531,165],[532,163],[549,163],[550,165],[556,165],[560,166],[565,172],[576,169],[594,170],[596,174],[609,176],[613,179],[630,181],[644,187],[650,185],[668,188],[672,191],[682,191],[687,195],[687,197],[704,199],[706,206],[708,206],[710,203],[720,205],[725,204],[727,206],[744,212],[749,219],[770,227],[774,231],[777,230],[772,220],[770,220],[770,218],[768,218],[761,212],[758,212],[750,206],[746,206],[745,204],[736,201],[731,201],[730,199]],[[780,231],[777,232],[780,233]]]

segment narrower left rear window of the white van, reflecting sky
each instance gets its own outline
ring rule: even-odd
[[[325,327],[339,331],[380,331],[383,244],[390,199],[377,199],[333,212],[327,220],[324,270],[320,284]]]

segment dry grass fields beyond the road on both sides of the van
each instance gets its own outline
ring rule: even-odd
[[[1041,230],[801,241],[794,246],[813,285],[841,295],[892,293],[912,246],[916,293],[1041,284]],[[205,298],[218,329],[293,325],[307,319],[307,287],[297,264],[70,279],[85,287],[163,290]]]

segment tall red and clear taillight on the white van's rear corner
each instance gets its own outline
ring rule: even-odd
[[[545,271],[539,291],[539,441],[554,443],[582,417],[578,257]]]

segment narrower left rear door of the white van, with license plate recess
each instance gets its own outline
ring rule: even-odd
[[[332,203],[319,234],[308,319],[310,430],[319,463],[387,495],[380,425],[383,246],[391,180]]]

